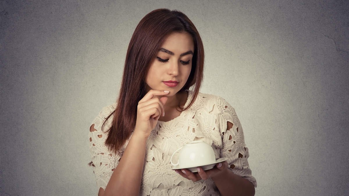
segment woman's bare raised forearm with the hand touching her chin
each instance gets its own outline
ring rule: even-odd
[[[99,196],[139,195],[147,139],[163,114],[168,92],[150,90],[138,103],[135,130],[122,154],[117,167]],[[158,98],[156,96],[160,96]]]

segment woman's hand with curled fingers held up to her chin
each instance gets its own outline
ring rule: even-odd
[[[135,132],[149,137],[160,115],[164,116],[164,105],[168,99],[165,95],[168,94],[169,91],[150,90],[138,102]]]

